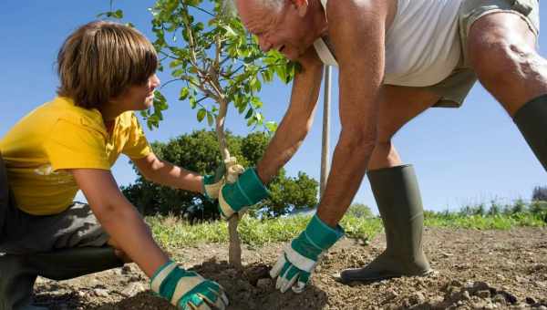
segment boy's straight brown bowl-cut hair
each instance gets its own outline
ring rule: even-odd
[[[82,108],[100,108],[130,86],[146,83],[157,67],[156,51],[139,31],[91,22],[68,36],[59,50],[57,95]]]

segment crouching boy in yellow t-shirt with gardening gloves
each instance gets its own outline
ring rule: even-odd
[[[222,185],[150,150],[133,113],[152,106],[160,85],[150,41],[92,22],[68,36],[57,62],[58,97],[0,140],[0,310],[35,308],[37,275],[68,279],[129,261],[171,304],[223,309],[222,286],[169,260],[110,172],[124,153],[150,181],[212,198]],[[88,204],[73,203],[78,189]]]

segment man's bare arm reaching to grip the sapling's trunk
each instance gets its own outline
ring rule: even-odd
[[[309,132],[323,78],[323,63],[311,47],[299,60],[301,72],[294,77],[291,103],[275,131],[263,158],[257,164],[259,178],[268,183],[289,161]]]

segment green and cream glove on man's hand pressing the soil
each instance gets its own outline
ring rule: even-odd
[[[304,232],[292,243],[285,245],[284,252],[272,267],[270,276],[277,277],[275,288],[281,293],[290,287],[294,293],[304,292],[305,284],[308,283],[320,255],[333,246],[342,235],[342,227],[338,225],[333,229],[315,214]]]

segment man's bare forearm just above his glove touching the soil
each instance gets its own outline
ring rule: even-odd
[[[341,137],[336,145],[325,194],[317,208],[319,218],[331,227],[344,217],[365,176],[374,141],[363,139]]]

